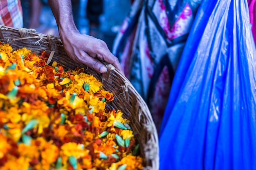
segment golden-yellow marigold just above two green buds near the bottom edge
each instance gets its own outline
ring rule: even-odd
[[[61,146],[61,152],[63,155],[69,157],[74,156],[80,158],[86,155],[86,151],[82,148],[81,144],[74,142],[68,142]]]

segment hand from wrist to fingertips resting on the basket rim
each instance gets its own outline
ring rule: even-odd
[[[124,74],[117,57],[110,52],[107,44],[101,39],[79,32],[68,36],[62,35],[61,39],[65,52],[77,63],[83,63],[97,72],[105,73],[107,68],[101,61],[106,61]]]

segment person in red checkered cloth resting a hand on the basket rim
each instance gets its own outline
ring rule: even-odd
[[[99,61],[104,60],[122,72],[117,57],[110,52],[104,41],[78,31],[73,19],[71,0],[48,0],[48,3],[56,19],[65,52],[72,60],[105,73],[107,68]],[[0,24],[14,28],[23,26],[20,0],[1,0],[0,7]]]

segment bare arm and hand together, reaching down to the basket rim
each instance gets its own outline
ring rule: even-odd
[[[64,50],[72,60],[100,73],[107,71],[106,66],[101,62],[106,61],[124,74],[117,57],[110,52],[104,41],[81,34],[77,30],[70,0],[48,0],[48,3],[56,19]]]

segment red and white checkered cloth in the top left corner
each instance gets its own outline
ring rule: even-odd
[[[20,0],[0,0],[0,24],[13,28],[23,27]]]

